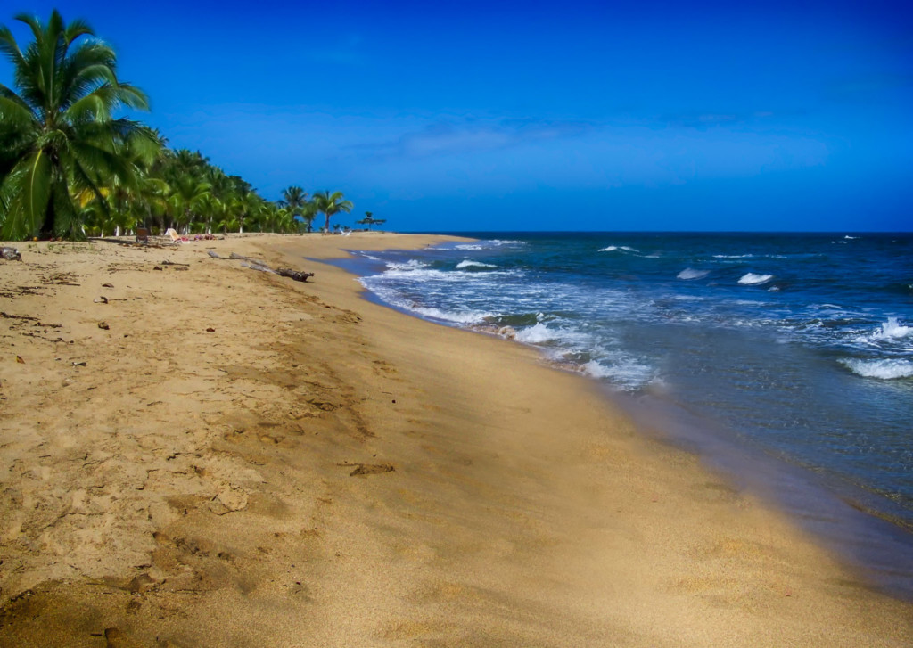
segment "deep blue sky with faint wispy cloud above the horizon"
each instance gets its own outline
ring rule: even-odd
[[[913,229],[908,3],[632,5],[12,0],[0,20],[25,41],[19,11],[86,18],[173,147],[403,231]]]

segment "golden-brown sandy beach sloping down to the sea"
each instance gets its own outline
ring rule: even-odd
[[[0,261],[0,645],[913,644],[913,606],[589,381],[302,260],[436,240]]]

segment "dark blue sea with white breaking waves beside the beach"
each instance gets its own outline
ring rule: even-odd
[[[419,317],[534,345],[657,426],[649,413],[687,420],[674,434],[701,451],[767,466],[731,471],[788,466],[771,481],[889,520],[875,561],[913,591],[913,235],[474,236],[362,253],[362,283]],[[849,544],[872,549],[870,531]]]

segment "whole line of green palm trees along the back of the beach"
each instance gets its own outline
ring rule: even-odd
[[[0,26],[13,88],[0,83],[0,239],[163,233],[311,231],[323,214],[350,213],[341,192],[289,186],[269,201],[200,152],[121,110],[148,110],[142,89],[117,76],[114,51],[82,20],[20,15],[32,41]],[[14,89],[15,88],[15,89]],[[370,214],[369,214],[370,218]],[[369,221],[365,221],[368,223]],[[370,225],[369,225],[370,226]],[[338,228],[338,225],[337,225]]]

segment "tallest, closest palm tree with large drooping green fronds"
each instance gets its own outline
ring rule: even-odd
[[[135,181],[121,149],[146,129],[113,113],[147,110],[148,100],[118,80],[114,51],[84,21],[65,25],[57,10],[47,24],[16,20],[34,40],[23,51],[0,26],[0,52],[18,89],[0,84],[0,237],[82,236],[73,196],[88,190],[107,209],[101,187]]]

